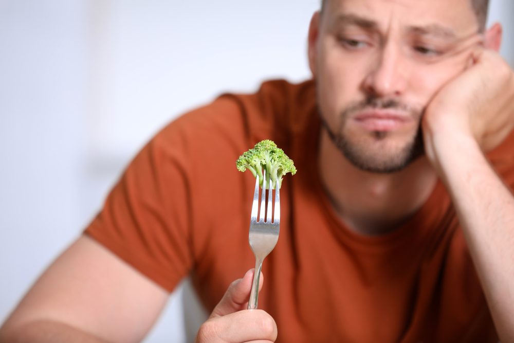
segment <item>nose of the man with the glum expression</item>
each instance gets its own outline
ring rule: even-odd
[[[401,52],[392,42],[384,44],[364,79],[365,92],[376,97],[392,98],[405,92],[407,78],[403,62]]]

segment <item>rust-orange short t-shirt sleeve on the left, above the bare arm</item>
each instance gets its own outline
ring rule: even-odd
[[[188,169],[180,145],[170,146],[156,136],[127,167],[85,230],[168,291],[193,263]]]

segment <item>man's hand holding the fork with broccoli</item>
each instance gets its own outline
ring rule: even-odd
[[[262,310],[246,310],[252,279],[253,269],[250,269],[243,279],[230,284],[223,299],[198,330],[195,343],[269,343],[277,339],[277,324],[269,314]],[[260,287],[262,280],[261,274]]]

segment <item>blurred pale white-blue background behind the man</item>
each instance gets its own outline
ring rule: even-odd
[[[227,91],[309,78],[306,34],[318,7],[0,0],[0,322],[163,125]],[[513,19],[514,1],[491,0],[488,22],[504,25],[511,65]],[[186,281],[145,341],[191,341],[198,314]]]

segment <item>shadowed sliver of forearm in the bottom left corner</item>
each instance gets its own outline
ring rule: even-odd
[[[0,330],[0,343],[106,343],[67,324],[38,320],[17,328],[4,327]]]

